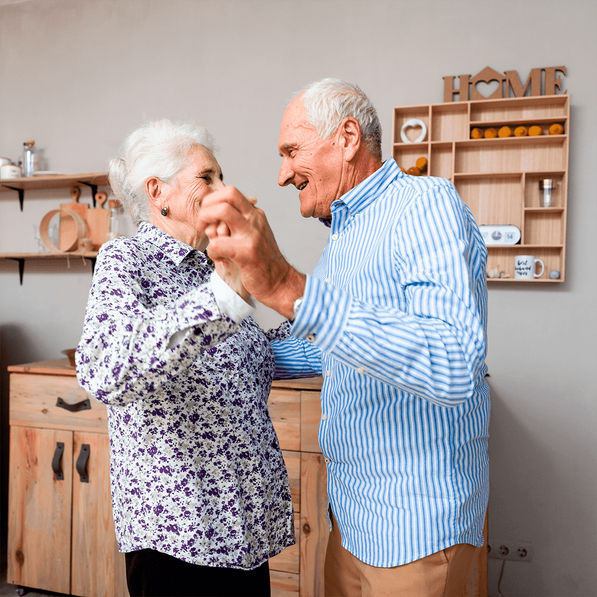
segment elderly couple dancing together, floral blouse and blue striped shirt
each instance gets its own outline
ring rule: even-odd
[[[315,82],[278,141],[278,183],[330,227],[304,275],[213,147],[204,128],[150,122],[110,165],[140,226],[100,250],[76,358],[108,405],[130,594],[270,595],[267,559],[294,525],[269,387],[319,375],[325,595],[471,594],[489,392],[487,254],[469,210],[449,181],[381,161],[356,85]],[[264,333],[251,296],[287,321]]]

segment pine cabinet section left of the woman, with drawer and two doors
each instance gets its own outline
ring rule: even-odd
[[[8,370],[7,581],[81,597],[128,597],[112,517],[106,405],[79,387],[67,359]],[[69,410],[84,401],[85,410]]]

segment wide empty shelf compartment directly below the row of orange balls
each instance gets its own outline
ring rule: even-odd
[[[524,139],[524,137],[519,137]],[[566,165],[567,144],[547,141],[477,145],[483,141],[457,143],[455,173],[525,172],[562,170]],[[493,141],[493,140],[492,140]],[[508,141],[502,139],[500,141]],[[545,142],[546,141],[546,142]],[[468,144],[473,143],[473,144]],[[529,206],[531,207],[531,206]]]

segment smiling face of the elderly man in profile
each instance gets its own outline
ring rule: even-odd
[[[349,190],[341,188],[343,154],[336,135],[321,139],[309,124],[302,94],[291,101],[282,116],[278,150],[282,157],[278,184],[294,184],[300,191],[301,216],[330,217],[331,204]]]

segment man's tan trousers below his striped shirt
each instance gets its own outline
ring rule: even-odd
[[[361,562],[342,547],[338,524],[330,508],[332,531],[325,554],[325,597],[463,597],[477,585],[481,550],[459,543],[402,566],[378,568]]]

